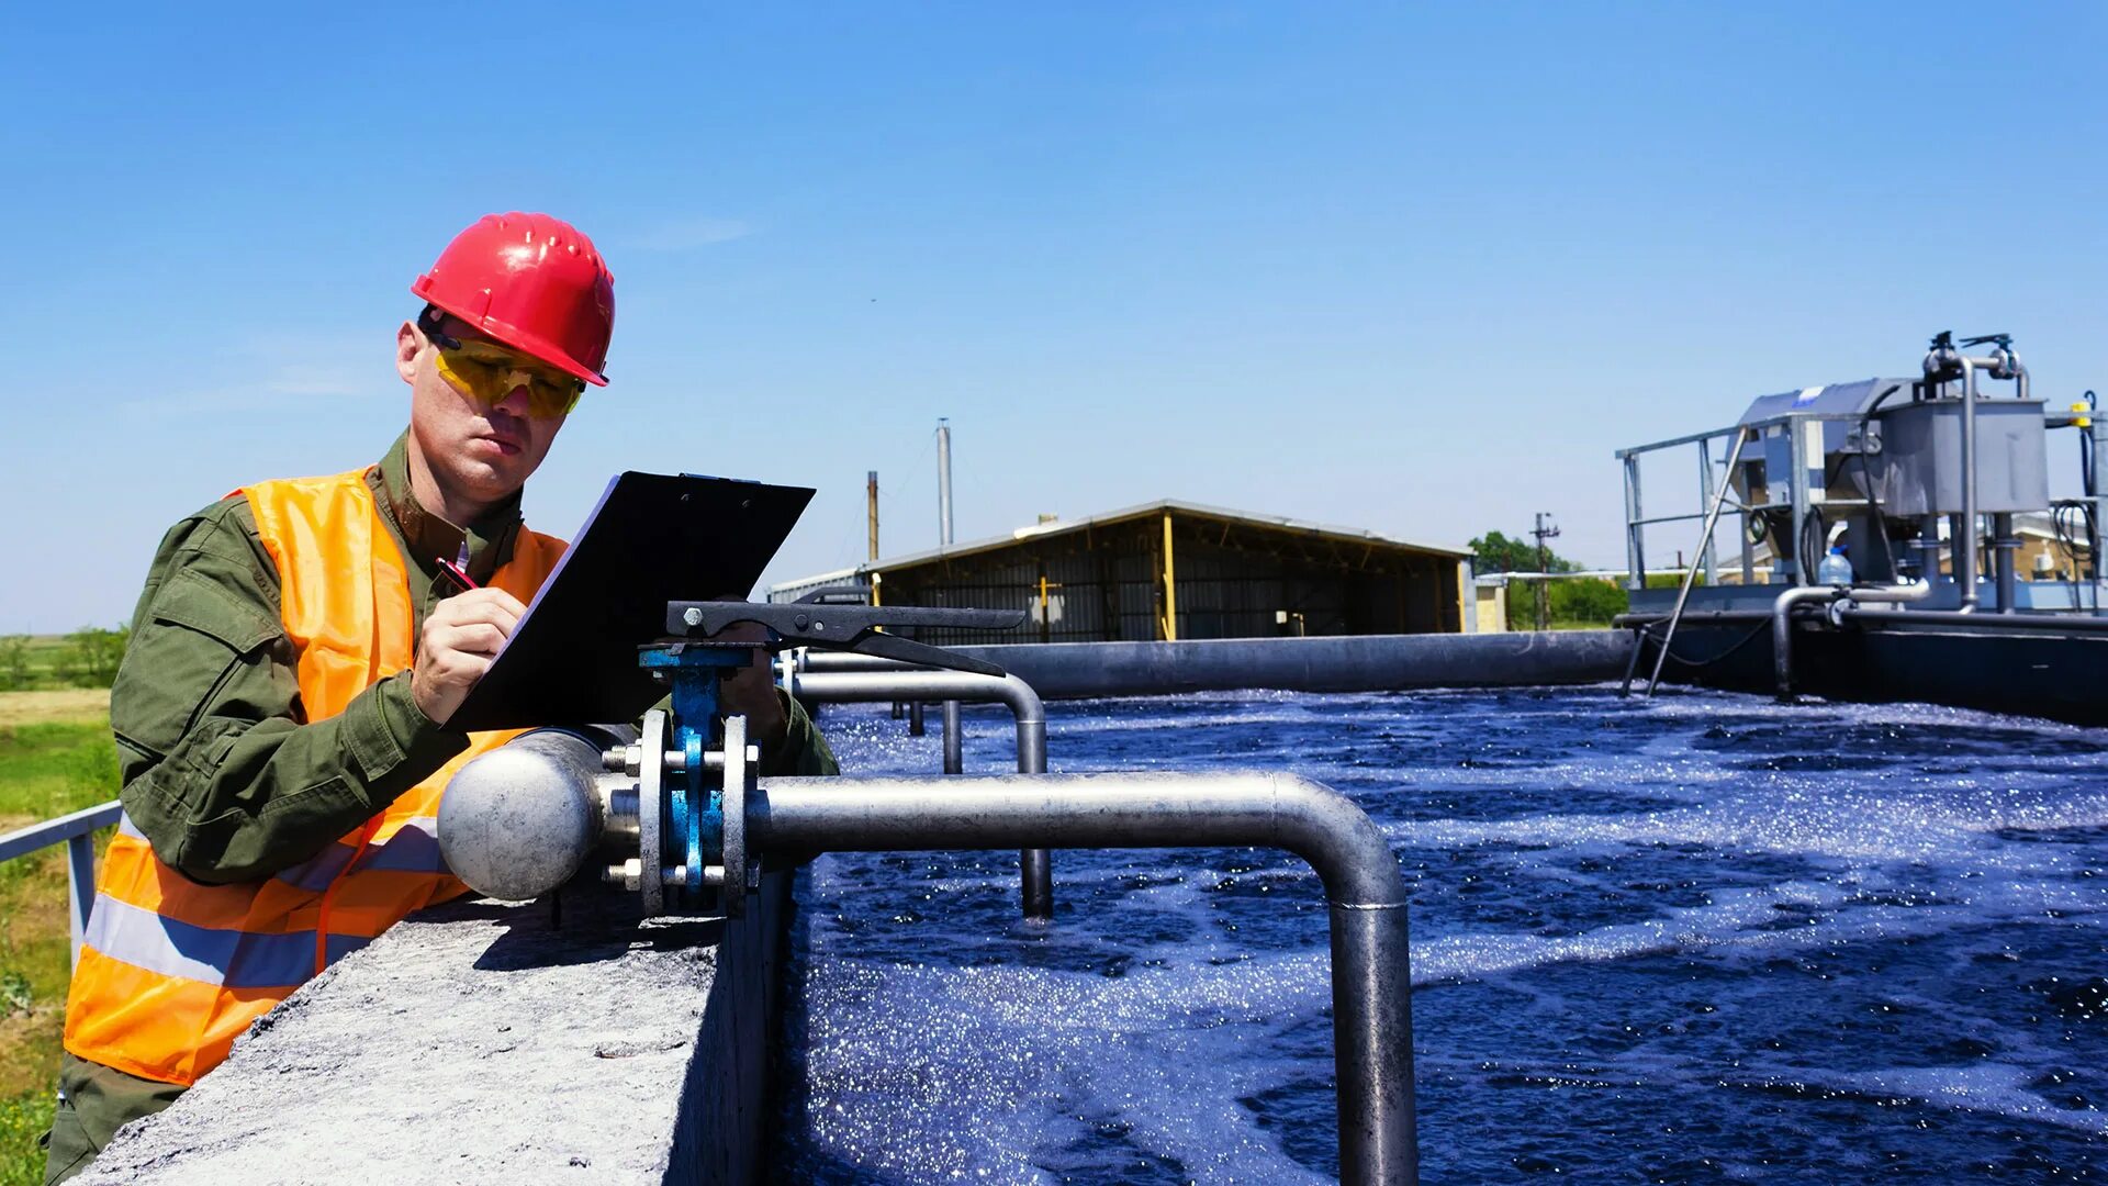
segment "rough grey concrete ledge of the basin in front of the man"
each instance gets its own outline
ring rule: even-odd
[[[748,1182],[788,874],[748,916],[635,895],[451,903],[396,924],[234,1045],[78,1182]]]

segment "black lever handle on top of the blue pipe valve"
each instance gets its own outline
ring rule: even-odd
[[[946,671],[1003,675],[1003,669],[982,658],[930,646],[900,635],[879,633],[879,627],[951,627],[970,631],[1010,631],[1024,625],[1024,610],[951,610],[940,606],[847,606],[822,597],[841,589],[822,589],[799,601],[666,601],[666,633],[708,642],[738,623],[755,623],[769,631],[767,650],[814,646],[820,650],[854,650],[879,658],[896,658]],[[748,644],[742,644],[748,646]]]

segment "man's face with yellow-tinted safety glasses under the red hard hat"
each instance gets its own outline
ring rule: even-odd
[[[453,317],[441,333],[462,342],[474,359],[512,355]],[[523,355],[514,359],[525,371],[561,376]],[[525,376],[508,367],[485,367],[485,376],[502,378],[483,382],[481,390],[460,382],[464,369],[443,367],[438,346],[422,327],[405,321],[396,331],[396,371],[411,388],[409,431],[417,452],[449,496],[487,506],[527,483],[563,428],[563,414],[535,416],[531,384],[514,382]]]

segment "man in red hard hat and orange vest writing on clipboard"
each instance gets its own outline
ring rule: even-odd
[[[438,855],[438,796],[512,734],[447,718],[563,555],[521,523],[521,487],[586,384],[607,384],[613,276],[569,224],[508,213],[411,293],[411,416],[388,456],[242,487],[177,523],[148,572],[110,692],[124,821],[67,1000],[46,1184],[329,962],[466,891]],[[767,770],[835,772],[765,665],[725,703]]]

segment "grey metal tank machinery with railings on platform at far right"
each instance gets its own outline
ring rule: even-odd
[[[2072,428],[2078,439],[2081,494],[2072,498],[2051,498],[2053,428]],[[2070,705],[2057,696],[2051,709],[2034,705],[2041,694],[2030,682],[2076,671],[2072,656],[2081,650],[2045,654],[2043,646],[2017,642],[1958,648],[1922,637],[2108,635],[2097,561],[2104,435],[2091,390],[2062,407],[2032,395],[2011,336],[1956,342],[1939,333],[1914,378],[1767,395],[1724,428],[1619,449],[1632,591],[1632,612],[1619,625],[1634,631],[1629,671],[1640,669],[1648,648],[1648,688],[1672,658],[1686,673],[1750,667],[1743,648],[1769,627],[1771,682],[1783,696],[1796,680],[1796,637],[1828,631],[1832,644],[1851,639],[1823,652],[1834,658],[1826,686],[1834,694],[1914,692],[1912,699],[2066,720],[2104,715],[2108,705]],[[1657,513],[1659,502],[1648,504],[1642,490],[1642,460],[1682,449],[1697,452],[1699,504]],[[1648,530],[1680,523],[1697,530],[1691,568],[1676,589],[1646,589]],[[1836,547],[1849,557],[1851,576],[1838,580],[1847,570],[1832,563],[1832,578],[1823,580],[1819,561]],[[2030,551],[2026,566],[2024,551]],[[1672,654],[1680,627],[1735,627],[1748,635],[1726,635],[1733,650],[1693,658]],[[1868,631],[1920,637],[1908,642],[1906,656],[1891,642],[1861,644]],[[1941,648],[1956,656],[1967,650],[1967,663],[1929,658]],[[2085,663],[2093,661],[2085,650]],[[1819,656],[1811,665],[1823,669]]]

